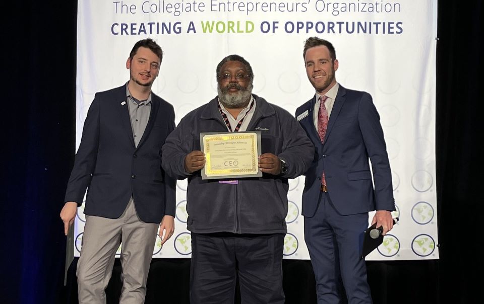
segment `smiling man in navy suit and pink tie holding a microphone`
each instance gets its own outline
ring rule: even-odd
[[[339,63],[329,41],[307,39],[302,55],[316,89],[297,108],[296,117],[315,145],[302,215],[318,303],[341,302],[340,279],[349,303],[371,303],[365,260],[360,258],[368,212],[377,210],[372,223],[383,226],[385,235],[393,227],[395,210],[380,117],[370,94],[336,82]]]

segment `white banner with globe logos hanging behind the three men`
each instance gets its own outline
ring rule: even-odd
[[[79,0],[77,140],[95,92],[129,80],[125,62],[153,38],[163,62],[152,90],[175,122],[217,95],[215,68],[229,54],[252,65],[254,93],[294,114],[314,95],[302,48],[310,36],[333,43],[336,80],[367,91],[381,116],[400,221],[367,260],[437,259],[435,71],[437,0]],[[284,257],[309,259],[300,214],[304,176],[289,181]],[[153,257],[190,257],[187,181],[178,181],[175,234]],[[264,203],[261,200],[261,203]],[[78,210],[75,254],[85,217]],[[370,214],[370,220],[373,214]],[[118,250],[118,254],[119,254]]]

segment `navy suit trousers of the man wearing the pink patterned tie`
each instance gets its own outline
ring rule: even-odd
[[[315,215],[304,218],[318,304],[341,302],[340,281],[349,304],[372,303],[365,259],[360,258],[367,227],[368,212],[341,215],[325,192],[321,192]]]

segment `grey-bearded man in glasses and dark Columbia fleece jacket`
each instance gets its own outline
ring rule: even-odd
[[[181,119],[163,145],[163,169],[189,180],[190,299],[233,302],[238,273],[244,303],[283,303],[287,179],[306,172],[314,147],[292,115],[252,94],[254,74],[243,57],[225,57],[216,77],[218,96]],[[202,180],[200,132],[255,130],[261,132],[262,177]]]

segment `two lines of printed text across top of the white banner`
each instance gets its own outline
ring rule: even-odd
[[[397,19],[398,15],[402,13],[402,5],[398,2],[384,0],[375,2],[359,0],[346,2],[324,0],[265,2],[132,0],[114,1],[112,5],[113,13],[116,16],[133,16],[132,21],[123,18],[123,21],[113,22],[110,25],[112,35],[247,34],[253,32],[392,35],[402,34],[404,31],[403,22]],[[206,18],[207,13],[213,13],[214,18],[200,20],[200,14],[204,14],[203,16]],[[233,13],[234,17],[233,20],[217,20],[215,19],[218,16],[217,13]],[[261,16],[266,13],[285,13],[280,16],[287,16],[287,20],[261,21]],[[291,14],[297,15],[299,20],[294,20],[295,17],[292,17]],[[307,18],[304,18],[304,14],[307,14]],[[345,16],[349,14],[352,18],[345,20]],[[362,19],[355,20],[354,14],[361,15]],[[149,15],[150,20],[147,22],[144,19],[143,22],[139,22],[135,20],[135,15]],[[175,18],[181,15],[185,15],[185,17],[183,19]],[[372,21],[368,21],[370,15],[374,15],[370,19]],[[382,16],[381,20],[378,19],[379,16]],[[395,19],[389,20],[389,16]]]

